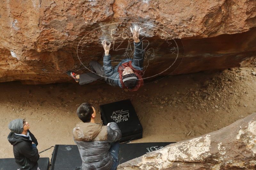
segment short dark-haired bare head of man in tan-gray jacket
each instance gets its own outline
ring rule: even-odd
[[[76,110],[76,114],[84,123],[91,122],[93,106],[90,103],[82,103]]]

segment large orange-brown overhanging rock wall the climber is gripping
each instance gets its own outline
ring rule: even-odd
[[[3,0],[0,82],[70,81],[66,70],[102,60],[103,39],[116,64],[132,55],[134,25],[143,28],[149,79],[244,67],[256,56],[255,8],[255,0]]]

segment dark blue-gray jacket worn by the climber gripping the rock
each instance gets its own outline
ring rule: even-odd
[[[123,63],[128,63],[129,61],[132,61],[132,69],[136,70],[143,70],[143,48],[142,48],[142,42],[140,41],[139,43],[134,44],[134,54],[133,54],[133,59],[124,59],[122,60],[116,67],[112,67],[111,65],[111,56],[105,55],[103,57],[103,68],[106,76],[108,76],[108,84],[112,86],[119,86],[123,88],[121,79],[119,78],[119,72],[118,72],[118,67],[123,64]]]

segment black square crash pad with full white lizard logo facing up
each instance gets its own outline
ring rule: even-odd
[[[116,122],[122,132],[120,142],[142,138],[142,126],[129,99],[100,105],[100,115],[104,125]]]

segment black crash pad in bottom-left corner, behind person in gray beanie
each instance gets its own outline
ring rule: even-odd
[[[37,161],[37,170],[48,170],[49,169],[49,158],[39,158]],[[21,167],[15,162],[14,158],[3,158],[0,159],[0,170],[19,170]]]

